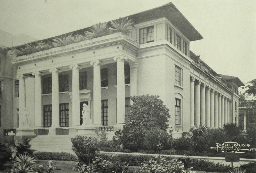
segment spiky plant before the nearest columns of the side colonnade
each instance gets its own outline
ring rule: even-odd
[[[202,126],[201,124],[199,126],[194,127],[194,129],[191,131],[191,141],[190,145],[196,149],[199,150],[203,147],[203,140],[204,140],[204,132],[206,130],[207,126]]]

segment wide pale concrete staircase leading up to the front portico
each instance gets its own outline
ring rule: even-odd
[[[68,152],[74,154],[70,135],[38,135],[30,141],[36,151]]]

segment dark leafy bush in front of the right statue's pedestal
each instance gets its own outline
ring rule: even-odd
[[[95,158],[98,148],[95,146],[95,142],[92,137],[79,136],[71,138],[72,150],[76,153],[80,162],[89,165],[92,159]]]

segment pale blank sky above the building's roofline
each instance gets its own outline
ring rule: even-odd
[[[169,2],[204,37],[190,49],[213,70],[256,78],[256,0],[0,0],[0,30],[40,40]]]

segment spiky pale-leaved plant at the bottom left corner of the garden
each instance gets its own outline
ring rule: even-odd
[[[13,173],[34,173],[37,160],[27,154],[17,155],[12,161]]]

